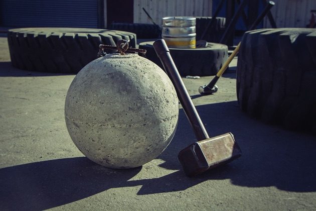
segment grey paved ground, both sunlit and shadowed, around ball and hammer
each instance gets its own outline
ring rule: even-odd
[[[81,154],[67,132],[64,103],[74,75],[13,68],[0,38],[0,210],[314,210],[316,137],[243,114],[233,68],[217,93],[212,77],[186,79],[211,137],[232,132],[242,156],[194,178],[178,152],[195,136],[180,110],[169,147],[142,167],[113,170]]]

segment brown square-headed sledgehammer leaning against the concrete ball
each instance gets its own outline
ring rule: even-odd
[[[153,48],[176,88],[183,110],[198,139],[198,142],[181,150],[178,155],[185,174],[188,176],[195,176],[208,169],[226,164],[240,157],[241,150],[235,142],[233,134],[227,133],[214,138],[209,138],[170,55],[165,40],[156,40],[153,43]]]

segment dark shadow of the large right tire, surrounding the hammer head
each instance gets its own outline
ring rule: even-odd
[[[264,124],[242,113],[237,101],[197,106],[210,137],[232,132],[242,156],[199,175],[201,181],[230,179],[247,187],[275,186],[293,192],[316,191],[316,137]],[[160,158],[161,166],[179,169],[180,150],[196,141],[183,111],[176,136]],[[183,173],[183,172],[182,172]]]

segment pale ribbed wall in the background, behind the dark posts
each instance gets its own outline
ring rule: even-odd
[[[106,1],[109,0],[104,0],[105,6]],[[310,10],[316,10],[316,0],[273,1],[275,6],[271,9],[271,13],[278,28],[305,27],[311,17]],[[166,16],[212,16],[212,0],[134,0],[134,23],[151,24],[142,8],[145,8],[153,21],[159,25],[162,24],[162,18]],[[104,13],[106,17],[106,7]],[[263,26],[271,28],[267,18],[264,19]]]

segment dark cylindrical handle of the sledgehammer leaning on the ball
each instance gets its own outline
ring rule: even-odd
[[[178,69],[170,55],[169,49],[165,40],[156,40],[153,43],[153,48],[160,58],[165,70],[167,71],[172,83],[174,84],[183,110],[193,128],[194,134],[198,141],[210,138],[205,130],[205,127],[200,119],[200,116],[191,100],[191,97],[181,79]]]

